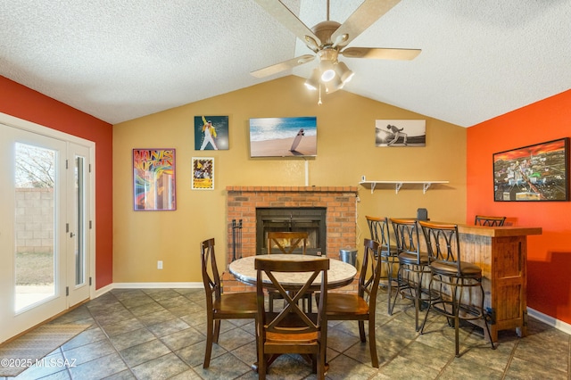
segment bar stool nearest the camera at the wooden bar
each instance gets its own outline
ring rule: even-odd
[[[432,272],[429,288],[437,294],[428,304],[420,334],[424,332],[426,318],[431,310],[445,316],[451,326],[451,321],[453,322],[455,353],[459,357],[460,320],[481,319],[486,336],[492,336],[484,310],[482,268],[462,260],[458,226],[426,221],[418,223],[426,239]],[[495,349],[492,339],[490,343],[492,350]]]

